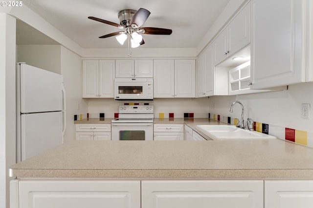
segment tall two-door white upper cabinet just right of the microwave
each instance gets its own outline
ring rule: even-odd
[[[154,60],[154,97],[195,97],[196,62]]]

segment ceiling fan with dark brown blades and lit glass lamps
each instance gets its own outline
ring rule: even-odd
[[[138,11],[133,9],[124,9],[118,13],[118,19],[120,24],[99,19],[95,17],[88,17],[105,24],[110,24],[112,26],[118,27],[123,31],[110,33],[99,38],[109,38],[116,36],[117,41],[120,44],[124,44],[125,40],[129,38],[131,40],[132,48],[138,47],[139,45],[144,44],[144,40],[140,34],[149,34],[149,35],[171,35],[171,29],[156,28],[156,27],[141,27],[145,21],[148,19],[151,13],[143,8],[140,8]]]

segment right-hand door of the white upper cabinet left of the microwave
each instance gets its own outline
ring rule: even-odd
[[[99,97],[114,97],[115,60],[99,60]]]

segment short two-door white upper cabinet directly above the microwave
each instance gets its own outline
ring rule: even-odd
[[[153,60],[116,60],[115,77],[153,77]]]

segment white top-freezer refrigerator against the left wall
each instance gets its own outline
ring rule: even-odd
[[[17,162],[63,143],[66,130],[62,75],[18,63]]]

